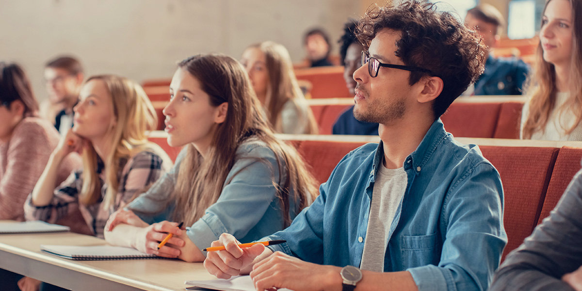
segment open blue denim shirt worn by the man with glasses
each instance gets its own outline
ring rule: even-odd
[[[359,266],[382,144],[339,162],[320,196],[269,246],[317,264]],[[485,290],[507,236],[499,173],[477,145],[457,143],[440,119],[404,162],[406,193],[392,222],[384,271],[407,270],[418,290]]]

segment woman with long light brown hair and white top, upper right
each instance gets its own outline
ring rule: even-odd
[[[540,44],[523,108],[521,137],[582,140],[582,15],[580,0],[546,2]]]

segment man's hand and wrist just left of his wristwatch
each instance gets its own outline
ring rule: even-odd
[[[341,290],[342,268],[301,261],[276,251],[265,260],[257,262],[250,272],[255,289],[276,290]]]

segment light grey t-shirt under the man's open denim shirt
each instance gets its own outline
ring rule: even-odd
[[[380,165],[372,190],[364,251],[360,269],[384,272],[384,256],[390,226],[406,191],[408,178],[404,168],[387,169]]]

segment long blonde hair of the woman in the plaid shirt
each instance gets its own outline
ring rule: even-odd
[[[132,80],[113,75],[93,76],[105,84],[113,104],[116,125],[109,129],[109,143],[113,144],[108,157],[101,157],[105,164],[105,184],[107,191],[103,200],[105,209],[115,204],[119,187],[119,161],[130,158],[137,152],[149,150],[162,159],[167,157],[161,148],[148,142],[146,132],[154,130],[158,118],[154,107],[143,88]],[[97,173],[97,152],[93,146],[85,148],[83,157],[83,186],[79,200],[85,205],[97,203],[101,197],[101,183]]]

